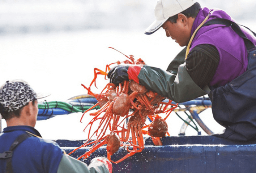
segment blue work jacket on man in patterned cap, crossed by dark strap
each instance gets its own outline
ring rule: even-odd
[[[10,126],[0,133],[0,153],[9,150],[14,140],[29,132],[38,137],[29,137],[13,151],[12,169],[14,172],[56,173],[63,151],[56,142],[41,138],[40,133],[30,126]],[[4,173],[6,159],[0,159],[0,173]]]

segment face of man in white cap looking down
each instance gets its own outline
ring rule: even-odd
[[[187,30],[187,27],[180,21],[177,20],[177,23],[171,23],[166,21],[162,28],[165,29],[166,36],[171,37],[172,40],[175,40],[180,46],[187,46],[190,38],[190,32]]]

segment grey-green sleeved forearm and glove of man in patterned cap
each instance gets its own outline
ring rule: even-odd
[[[97,160],[93,161],[88,167],[84,162],[64,154],[60,161],[57,173],[110,173],[108,170],[109,168],[107,167],[108,165]]]

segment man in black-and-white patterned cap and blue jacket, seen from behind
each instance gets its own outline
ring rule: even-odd
[[[0,133],[1,173],[112,173],[112,164],[94,158],[89,167],[61,150],[56,142],[44,140],[34,128],[38,114],[37,96],[22,80],[0,87],[0,113],[7,127]]]

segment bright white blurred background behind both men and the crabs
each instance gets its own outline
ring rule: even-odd
[[[154,21],[157,0],[0,0],[0,85],[7,80],[24,79],[36,92],[51,93],[47,101],[65,101],[87,94],[93,69],[126,60],[124,55],[142,58],[146,64],[166,69],[183,48],[163,29],[152,35],[144,30]],[[256,31],[255,0],[198,0],[202,7],[220,8],[238,23]],[[97,78],[100,92],[108,83]],[[40,101],[40,100],[39,100]],[[41,100],[43,102],[44,100]],[[201,119],[214,132],[219,126],[211,110]],[[200,115],[201,115],[200,114]],[[50,139],[80,139],[86,126],[80,113],[57,116],[37,122],[36,128]],[[183,122],[171,115],[171,135],[178,135]],[[3,121],[3,127],[6,124]],[[54,133],[52,133],[54,131]],[[202,132],[204,135],[205,133]],[[197,135],[188,128],[186,135]]]

